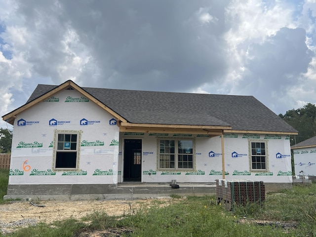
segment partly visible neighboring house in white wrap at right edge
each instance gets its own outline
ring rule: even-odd
[[[295,175],[316,176],[316,136],[291,147]]]

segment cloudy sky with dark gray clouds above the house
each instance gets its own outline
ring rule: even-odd
[[[0,116],[69,79],[285,114],[316,103],[315,21],[316,0],[0,0]]]

